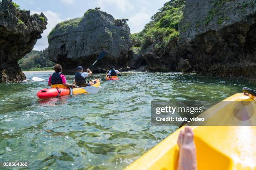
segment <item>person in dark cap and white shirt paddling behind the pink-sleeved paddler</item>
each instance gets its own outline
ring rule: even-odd
[[[81,87],[86,87],[91,85],[90,82],[88,83],[86,82],[86,77],[88,77],[89,75],[92,75],[92,71],[89,68],[87,68],[86,71],[87,72],[83,72],[82,66],[77,67],[77,72],[74,75],[74,84]]]

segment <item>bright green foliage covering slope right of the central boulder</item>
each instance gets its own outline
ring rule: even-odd
[[[183,16],[185,0],[171,0],[151,17],[141,32],[131,35],[133,46],[146,49],[150,45],[165,49],[172,40],[179,37],[179,21]]]

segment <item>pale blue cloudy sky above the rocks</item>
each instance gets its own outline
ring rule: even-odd
[[[114,18],[128,18],[131,33],[144,28],[159,8],[169,0],[13,0],[21,9],[30,10],[31,14],[41,12],[48,19],[47,29],[42,38],[37,40],[33,50],[48,47],[47,35],[57,23],[72,18],[82,17],[88,9],[101,7],[100,10]]]

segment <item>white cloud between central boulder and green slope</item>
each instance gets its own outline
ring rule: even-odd
[[[147,13],[137,13],[129,18],[128,25],[131,28],[131,33],[140,32],[144,25],[146,25],[151,19],[151,15]]]

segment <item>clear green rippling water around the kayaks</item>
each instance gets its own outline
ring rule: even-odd
[[[30,80],[49,75],[26,73]],[[151,126],[151,100],[220,101],[256,82],[127,72],[101,86],[98,94],[41,100],[36,92],[46,82],[0,83],[0,162],[28,161],[27,169],[123,169],[177,129]]]

